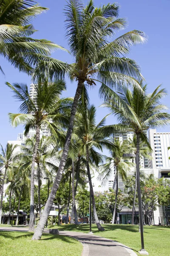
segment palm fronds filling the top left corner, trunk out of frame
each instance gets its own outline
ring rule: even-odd
[[[51,41],[30,38],[36,32],[30,21],[46,10],[32,0],[0,2],[0,55],[28,74],[54,49],[63,49]]]

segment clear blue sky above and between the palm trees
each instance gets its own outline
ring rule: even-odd
[[[94,0],[96,6],[107,4],[109,0]],[[68,48],[65,40],[64,14],[63,8],[65,0],[39,0],[41,6],[48,7],[46,13],[33,20],[33,25],[38,32],[34,38],[45,38]],[[84,0],[86,4],[87,1]],[[133,47],[128,57],[135,59],[141,66],[142,75],[148,84],[148,92],[152,92],[159,84],[167,88],[170,93],[170,1],[169,0],[119,0],[121,6],[119,17],[126,17],[129,25],[127,29],[115,35],[119,36],[133,29],[141,30],[148,35],[148,42]],[[53,54],[54,58],[62,61],[72,62],[71,56],[62,51]],[[19,73],[11,67],[6,60],[1,57],[0,66],[3,68],[6,77],[0,73],[0,143],[5,146],[8,140],[17,140],[17,134],[23,131],[23,127],[12,128],[8,121],[8,113],[18,113],[19,102],[15,102],[12,93],[5,82],[31,83],[31,78],[24,73]],[[89,91],[91,104],[96,107],[101,105],[97,86]],[[64,96],[74,96],[76,82],[71,84],[67,81],[67,92]],[[170,96],[163,101],[170,106]],[[97,122],[99,122],[108,112],[103,108],[97,109]],[[113,116],[108,118],[107,123],[115,123]],[[166,127],[164,131],[170,131]]]

